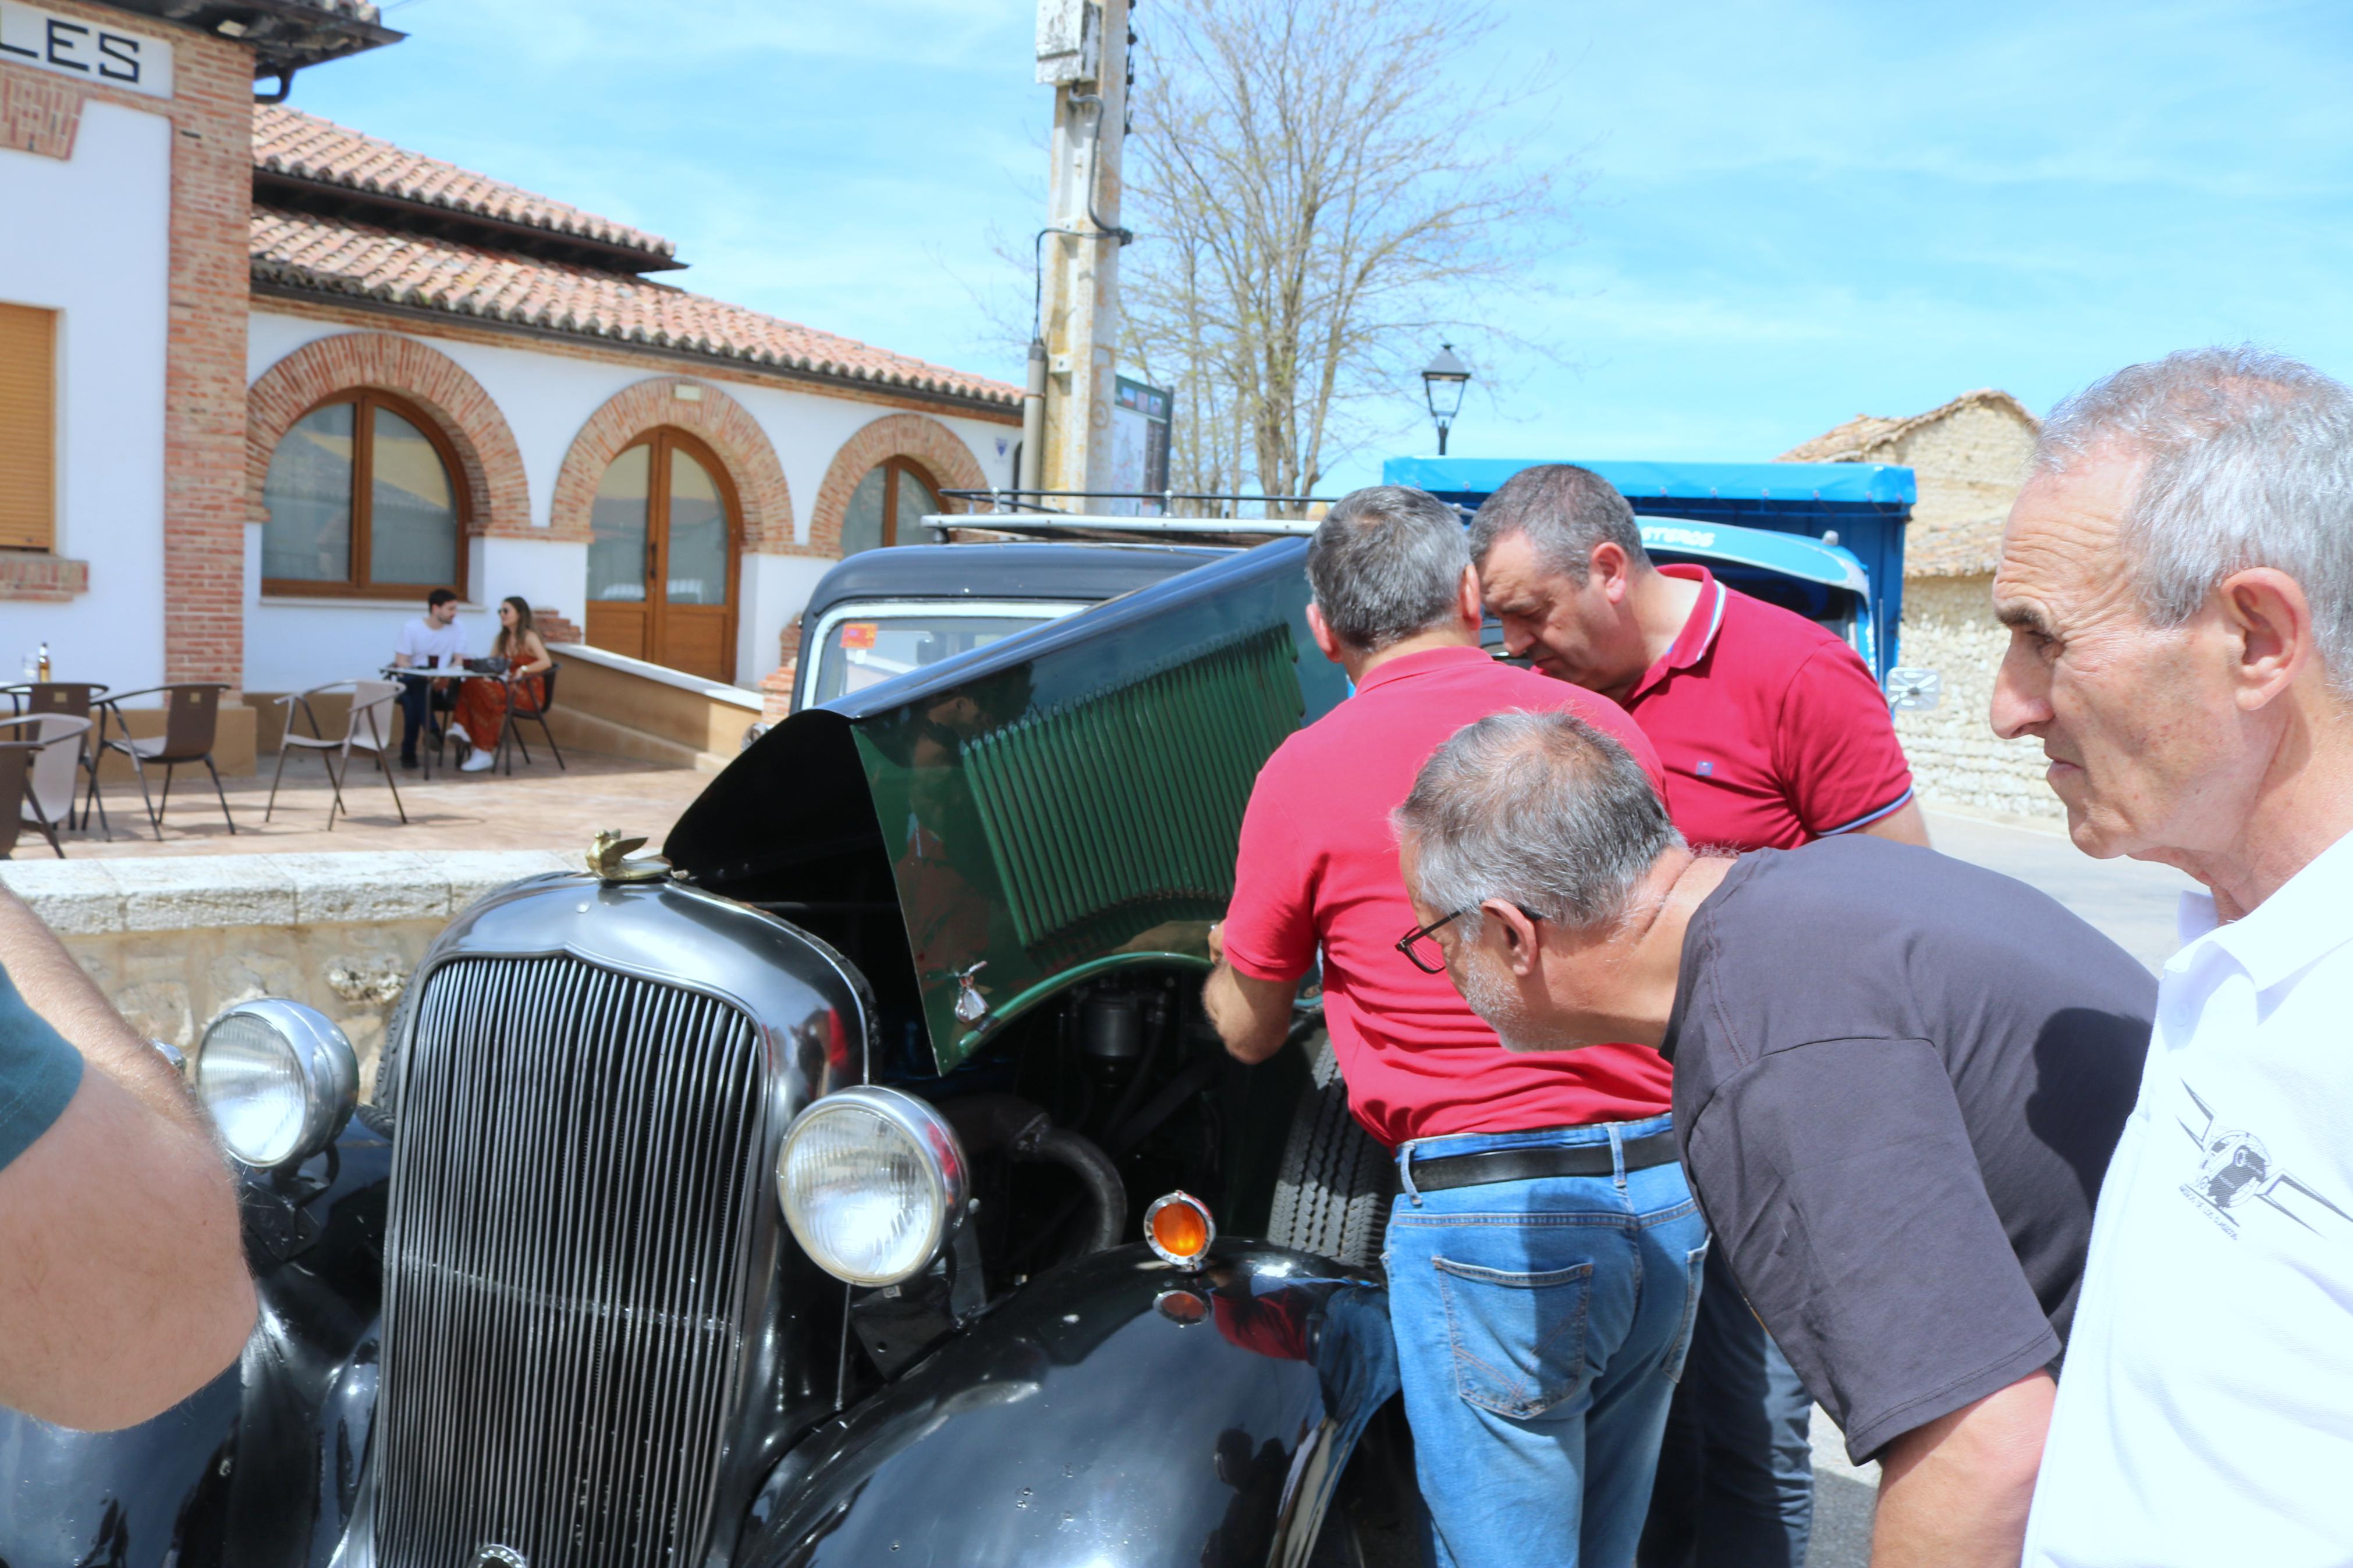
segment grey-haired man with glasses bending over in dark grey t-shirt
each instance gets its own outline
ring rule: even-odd
[[[1675,1065],[1715,1246],[1857,1460],[1873,1563],[2019,1561],[2153,983],[2007,877],[1885,839],[1694,856],[1567,715],[1447,741],[1398,811],[1414,912],[1506,1046]]]

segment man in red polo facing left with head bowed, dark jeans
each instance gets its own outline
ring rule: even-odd
[[[1487,611],[1546,675],[1633,715],[1697,849],[1795,849],[1840,832],[1927,844],[1887,698],[1833,632],[1734,592],[1706,567],[1654,567],[1633,508],[1598,473],[1522,468],[1471,524]],[[1708,1260],[1675,1392],[1645,1568],[1800,1568],[1812,1533],[1812,1401]]]

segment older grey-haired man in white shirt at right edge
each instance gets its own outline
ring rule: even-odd
[[[1993,726],[2092,856],[2179,865],[2026,1563],[2353,1554],[2353,393],[2252,348],[2064,402]]]

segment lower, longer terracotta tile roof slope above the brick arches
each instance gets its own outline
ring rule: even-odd
[[[1005,407],[1021,404],[1021,390],[1002,381],[894,355],[671,284],[398,235],[365,223],[256,207],[252,266],[256,282],[294,289],[976,397]]]

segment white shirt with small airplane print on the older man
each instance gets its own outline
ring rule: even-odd
[[[2353,835],[2158,983],[2028,1568],[2353,1561]]]

